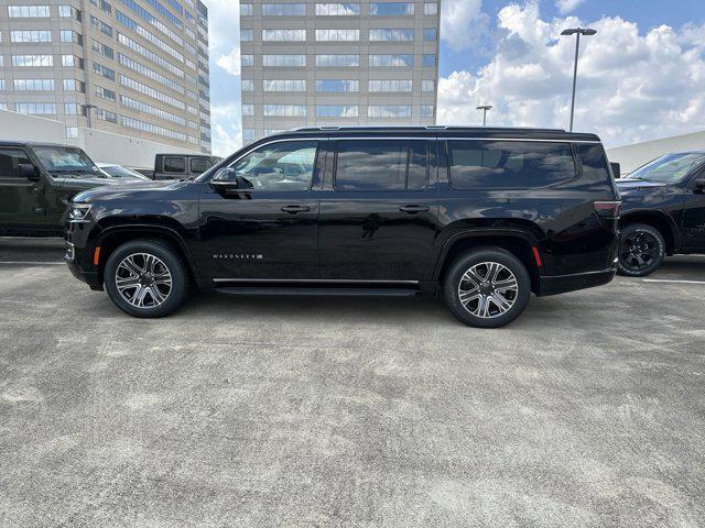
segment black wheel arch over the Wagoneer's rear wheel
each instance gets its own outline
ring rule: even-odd
[[[536,257],[534,253],[534,250],[540,251],[539,242],[532,233],[521,229],[475,229],[453,234],[441,250],[434,270],[434,280],[443,280],[457,255],[471,249],[488,246],[500,248],[519,258],[531,277],[531,290],[539,292],[541,268],[536,258],[540,261],[541,255]]]

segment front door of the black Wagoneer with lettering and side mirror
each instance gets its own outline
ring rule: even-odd
[[[209,278],[318,278],[319,140],[263,144],[219,169],[200,198],[199,267]]]

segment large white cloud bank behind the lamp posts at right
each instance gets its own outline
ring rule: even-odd
[[[574,37],[561,37],[575,18],[544,21],[534,2],[498,13],[491,61],[476,73],[438,82],[441,124],[567,128]],[[597,132],[611,146],[692,132],[705,122],[702,28],[666,25],[639,34],[620,18],[590,21],[598,33],[581,41],[575,130]]]

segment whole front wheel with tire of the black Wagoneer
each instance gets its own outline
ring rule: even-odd
[[[189,292],[189,277],[181,255],[158,240],[135,240],[120,245],[108,257],[104,282],[110,300],[118,308],[142,318],[172,314],[184,304]]]

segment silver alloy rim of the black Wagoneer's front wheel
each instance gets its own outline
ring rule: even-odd
[[[135,308],[155,308],[172,293],[172,274],[164,261],[150,253],[132,253],[118,264],[115,284]]]

